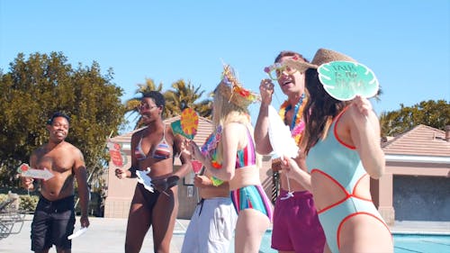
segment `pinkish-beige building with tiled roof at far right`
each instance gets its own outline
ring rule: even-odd
[[[382,148],[386,172],[371,192],[384,220],[450,221],[450,126],[419,125]]]

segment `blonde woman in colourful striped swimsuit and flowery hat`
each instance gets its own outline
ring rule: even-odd
[[[260,158],[247,111],[256,98],[238,83],[232,68],[225,66],[214,91],[212,122],[216,130],[202,149],[190,142],[193,157],[202,161],[213,183],[229,182],[231,201],[238,212],[235,252],[258,252],[272,221],[272,205],[259,179]]]

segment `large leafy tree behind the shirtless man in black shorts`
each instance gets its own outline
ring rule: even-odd
[[[71,117],[67,141],[84,153],[91,178],[101,178],[106,139],[117,133],[125,111],[112,69],[102,75],[96,62],[74,69],[60,52],[29,59],[19,53],[9,72],[0,71],[0,95],[1,186],[19,185],[16,167],[48,141],[45,124],[56,111]]]

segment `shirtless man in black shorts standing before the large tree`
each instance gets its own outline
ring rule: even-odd
[[[78,185],[81,204],[81,227],[89,226],[87,207],[89,190],[85,159],[79,149],[65,141],[69,129],[69,117],[54,113],[49,122],[49,142],[34,150],[30,167],[47,168],[54,176],[48,180],[22,177],[23,187],[34,190],[34,182],[40,185],[40,199],[31,223],[31,250],[49,252],[55,245],[58,253],[71,252],[72,234],[75,225],[74,178]]]

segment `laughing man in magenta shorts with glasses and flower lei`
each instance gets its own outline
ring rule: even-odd
[[[282,56],[284,54],[284,56]],[[281,56],[281,57],[280,57]],[[275,65],[269,67],[269,77],[261,80],[259,85],[259,93],[261,95],[261,105],[259,109],[259,114],[257,117],[257,123],[255,126],[255,140],[256,140],[256,148],[260,154],[269,155],[274,150],[270,140],[269,140],[269,105],[272,103],[272,98],[275,92],[274,81],[278,83],[281,91],[285,95],[284,100],[286,101],[283,106],[284,108],[291,107],[291,109],[284,110],[284,123],[293,128],[294,124],[297,122],[296,114],[297,112],[293,109],[297,104],[301,102],[302,96],[305,92],[305,76],[304,73],[298,71],[297,69],[290,68],[284,65],[284,62],[288,59],[295,60],[304,60],[301,55],[296,54],[294,52],[282,52],[275,59],[277,62]],[[274,68],[275,67],[275,68]],[[265,71],[267,71],[265,69]],[[275,79],[275,80],[274,80]],[[304,105],[304,100],[302,103]],[[300,113],[302,113],[302,108],[299,107]],[[293,122],[295,121],[295,122]],[[298,127],[298,125],[295,125]],[[283,162],[279,160],[275,160],[276,162]],[[290,162],[295,164],[296,167],[299,167],[298,177],[293,178],[289,176],[283,170],[279,171],[279,179],[280,179],[280,195],[276,198],[275,203],[275,218],[274,218],[274,229],[273,233],[273,247],[278,249],[279,253],[289,253],[295,252],[296,250],[302,251],[313,251],[317,252],[318,250],[324,250],[324,246],[322,242],[324,241],[323,232],[321,232],[320,224],[317,216],[315,220],[303,221],[300,216],[304,217],[314,217],[316,213],[315,208],[310,207],[310,203],[312,203],[311,197],[311,176],[307,171],[306,163],[302,152],[299,152],[297,158],[290,159]],[[286,163],[287,161],[284,161]],[[280,169],[280,167],[273,163],[273,168]],[[308,192],[305,192],[308,191]],[[287,194],[281,194],[281,193]],[[302,198],[302,201],[299,200],[284,200],[295,195],[309,194],[310,197]],[[301,210],[300,212],[296,212],[295,210]],[[285,218],[289,215],[296,215],[295,217]],[[284,217],[284,218],[281,218]],[[289,225],[286,226],[284,224],[283,219],[296,219],[298,223],[293,222],[290,226],[299,226],[298,233],[292,233],[291,229],[289,229]],[[314,219],[314,218],[312,218]],[[302,238],[304,234],[313,234],[317,236],[318,239],[311,241],[309,243],[303,242]],[[284,239],[281,239],[284,238]],[[286,250],[286,249],[290,250]],[[306,249],[307,248],[307,249]],[[327,251],[325,251],[327,252]]]

